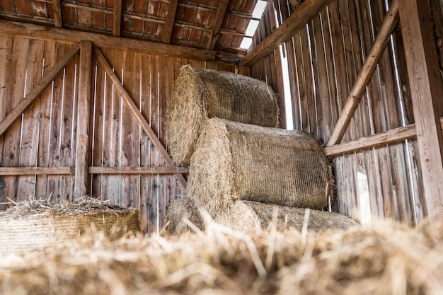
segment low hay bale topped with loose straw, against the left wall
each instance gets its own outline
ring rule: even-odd
[[[17,203],[0,212],[0,253],[44,248],[88,231],[103,231],[107,238],[120,238],[139,231],[139,214],[93,198],[66,203],[45,199]]]

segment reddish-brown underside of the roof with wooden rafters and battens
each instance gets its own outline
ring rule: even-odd
[[[246,54],[257,0],[1,0],[0,18]]]

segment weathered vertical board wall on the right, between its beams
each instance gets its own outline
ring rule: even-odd
[[[389,1],[390,2],[390,1]],[[442,1],[430,1],[436,51],[442,54]],[[262,42],[288,16],[286,1],[268,1],[267,25],[254,44]],[[350,89],[384,21],[384,0],[334,0],[282,46],[289,64],[295,129],[327,143]],[[277,16],[277,20],[275,18]],[[251,66],[257,78],[275,76],[276,52]],[[275,91],[281,86],[268,79]],[[286,106],[289,108],[289,106]],[[414,123],[401,27],[397,25],[341,142],[355,141]],[[373,219],[393,218],[417,224],[427,216],[416,139],[334,156],[335,210],[362,219],[364,190],[369,190]],[[359,182],[360,178],[360,182]],[[368,187],[364,186],[367,178]]]

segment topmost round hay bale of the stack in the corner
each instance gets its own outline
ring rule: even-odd
[[[176,164],[190,163],[208,118],[279,126],[277,98],[265,82],[226,71],[182,66],[168,106],[168,149]]]

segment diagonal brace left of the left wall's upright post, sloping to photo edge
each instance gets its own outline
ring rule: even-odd
[[[60,59],[54,67],[45,74],[45,76],[34,86],[33,90],[25,96],[25,98],[20,100],[20,103],[8,113],[3,121],[0,122],[0,136],[6,132],[6,130],[15,122],[18,117],[28,108],[28,106],[33,103],[33,101],[45,90],[46,86],[54,79],[63,67],[69,63],[69,61],[76,55],[79,51],[79,45],[74,45],[67,54]]]

